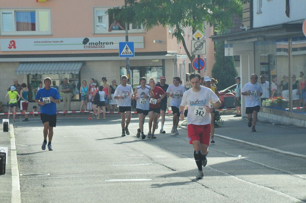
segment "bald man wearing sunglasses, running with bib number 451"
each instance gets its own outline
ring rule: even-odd
[[[246,83],[241,90],[241,94],[245,96],[245,113],[248,115],[249,120],[248,127],[252,126],[252,132],[256,132],[255,125],[257,122],[257,113],[260,109],[259,97],[263,94],[263,90],[261,89],[260,84],[257,83],[257,80],[258,76],[252,74],[251,82]]]

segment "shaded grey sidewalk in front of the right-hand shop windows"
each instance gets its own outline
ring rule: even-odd
[[[218,144],[220,138],[235,142],[244,141],[242,143],[264,149],[276,148],[290,152],[288,155],[302,154],[306,158],[306,128],[257,122],[257,132],[251,132],[247,119],[233,116],[221,118],[224,124],[215,128],[215,144]],[[181,128],[186,129],[186,122],[181,124]],[[273,151],[278,151],[276,149]]]

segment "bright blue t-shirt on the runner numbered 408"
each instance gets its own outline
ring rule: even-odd
[[[60,99],[58,90],[51,87],[49,90],[46,90],[45,88],[39,89],[35,99],[39,99],[39,101],[43,101],[43,98],[45,97],[53,97],[53,99]],[[56,103],[51,101],[48,104],[45,104],[40,107],[40,113],[44,113],[47,115],[54,115],[56,114]]]

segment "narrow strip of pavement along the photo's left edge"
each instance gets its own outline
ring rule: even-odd
[[[9,132],[3,132],[3,127],[0,127],[0,146],[8,147],[8,156],[6,164],[6,172],[0,175],[0,199],[1,202],[11,202],[12,192],[12,172],[11,172],[11,154],[10,154],[10,135]]]

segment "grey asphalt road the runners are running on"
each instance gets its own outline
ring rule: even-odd
[[[218,139],[196,180],[187,131],[141,140],[135,115],[126,137],[119,115],[58,118],[54,151],[41,150],[39,118],[14,127],[22,202],[306,202],[305,159]]]

